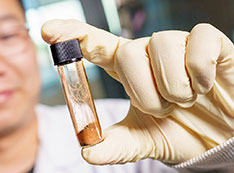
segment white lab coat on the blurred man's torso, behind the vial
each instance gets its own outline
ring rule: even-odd
[[[127,114],[129,101],[106,99],[96,101],[102,129],[120,121]],[[94,166],[86,163],[80,152],[66,106],[37,106],[39,123],[38,158],[35,173],[172,173],[175,170],[159,161],[146,159],[125,165]]]

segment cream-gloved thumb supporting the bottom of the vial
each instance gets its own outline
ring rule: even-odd
[[[83,158],[91,164],[123,164],[144,158],[154,158],[154,142],[150,134],[131,115],[103,132],[104,141],[82,149]]]

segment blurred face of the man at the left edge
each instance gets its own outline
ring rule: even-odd
[[[0,0],[0,136],[32,121],[39,91],[23,10],[18,0]]]

